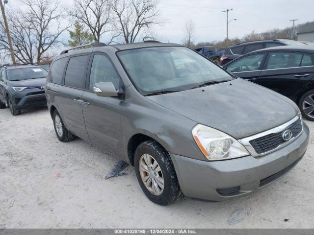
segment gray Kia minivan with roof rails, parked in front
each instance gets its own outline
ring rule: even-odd
[[[63,51],[46,97],[60,141],[78,136],[133,165],[160,205],[183,194],[222,201],[269,185],[309,141],[290,99],[177,44]]]

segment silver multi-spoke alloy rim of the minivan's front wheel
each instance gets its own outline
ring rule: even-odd
[[[163,192],[164,179],[157,161],[149,154],[143,154],[139,159],[139,172],[145,187],[150,193],[158,196]]]

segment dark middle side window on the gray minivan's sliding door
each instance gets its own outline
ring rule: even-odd
[[[85,87],[84,71],[88,55],[71,57],[65,72],[64,84],[83,89]]]

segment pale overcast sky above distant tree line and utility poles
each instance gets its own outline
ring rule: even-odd
[[[9,0],[17,6],[17,0]],[[73,0],[64,1],[72,3]],[[155,27],[156,34],[165,42],[182,43],[184,24],[191,19],[196,25],[195,42],[223,40],[226,37],[226,13],[229,20],[229,38],[241,38],[253,29],[263,32],[272,28],[314,21],[314,0],[159,0],[158,7],[164,24]],[[67,34],[62,38],[66,39]]]

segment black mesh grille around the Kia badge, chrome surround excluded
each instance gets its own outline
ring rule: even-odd
[[[280,133],[272,133],[249,142],[258,154],[265,153],[277,148],[279,145],[286,142],[282,138],[282,134],[286,130],[290,130],[292,132],[292,137],[296,137],[297,135],[299,135],[300,132],[302,131],[301,119],[300,118],[297,119],[295,122],[293,122],[291,125],[289,125],[285,130],[283,130]]]

